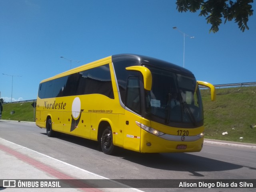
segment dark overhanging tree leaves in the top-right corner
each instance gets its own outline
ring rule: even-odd
[[[177,0],[176,5],[178,12],[196,12],[200,9],[199,16],[205,16],[207,23],[212,25],[210,32],[216,33],[222,18],[225,19],[224,24],[234,19],[242,32],[249,30],[247,22],[253,14],[250,3],[253,0]]]

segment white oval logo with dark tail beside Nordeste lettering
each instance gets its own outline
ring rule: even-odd
[[[79,97],[74,98],[72,103],[72,115],[71,115],[72,122],[71,122],[70,132],[75,130],[75,128],[77,128],[83,111],[84,110],[81,109],[80,98]]]

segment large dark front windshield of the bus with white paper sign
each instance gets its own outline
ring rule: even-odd
[[[146,67],[152,73],[152,89],[145,94],[146,113],[151,120],[170,126],[201,126],[202,101],[194,76]]]

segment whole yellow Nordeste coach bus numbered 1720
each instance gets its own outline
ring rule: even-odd
[[[204,141],[202,99],[189,70],[136,54],[117,54],[39,85],[36,125],[141,153],[198,152]]]

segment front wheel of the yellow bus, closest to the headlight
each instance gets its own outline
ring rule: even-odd
[[[107,126],[102,132],[101,140],[101,149],[105,154],[113,154],[115,146],[113,144],[113,134],[110,126]]]

